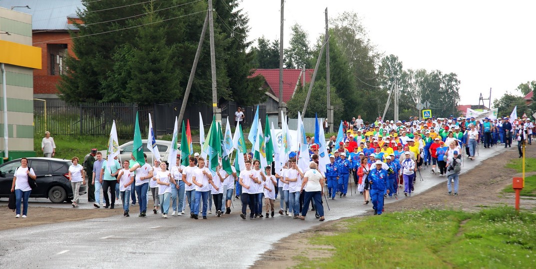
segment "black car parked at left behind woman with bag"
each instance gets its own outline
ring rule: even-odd
[[[48,198],[52,203],[71,203],[73,198],[69,181],[70,160],[57,158],[28,158],[28,167],[35,171],[38,188],[32,190],[30,197]],[[13,184],[13,173],[20,167],[20,159],[0,165],[0,197],[9,197]],[[87,186],[80,186],[80,195],[87,193]]]

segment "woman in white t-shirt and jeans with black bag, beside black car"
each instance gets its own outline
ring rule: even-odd
[[[28,184],[28,180],[35,180],[34,170],[28,167],[28,159],[20,159],[20,167],[13,174],[13,184],[11,184],[11,192],[15,192],[17,199],[15,218],[20,217],[20,200],[23,200],[23,218],[28,214],[28,198],[32,192],[32,188]]]

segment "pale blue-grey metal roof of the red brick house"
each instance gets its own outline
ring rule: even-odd
[[[77,9],[84,8],[81,0],[0,0],[0,6],[6,9],[26,5],[30,9],[13,10],[32,15],[32,30],[73,29],[74,27],[67,23],[67,17],[73,18]]]

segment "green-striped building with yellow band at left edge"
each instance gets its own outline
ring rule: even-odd
[[[41,63],[41,48],[32,46],[32,16],[0,8],[0,162],[35,156],[33,76]]]

